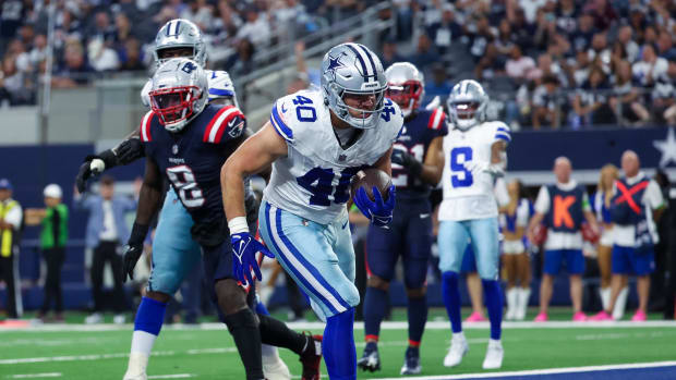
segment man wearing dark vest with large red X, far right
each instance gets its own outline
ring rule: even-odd
[[[655,222],[660,220],[665,203],[660,185],[640,171],[638,155],[626,150],[621,156],[625,176],[613,187],[613,278],[611,302],[593,320],[613,320],[612,311],[621,292],[623,282],[636,274],[639,308],[632,321],[645,320],[650,292],[650,273],[655,270],[654,244],[659,242]]]

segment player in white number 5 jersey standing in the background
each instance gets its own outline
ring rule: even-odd
[[[503,363],[499,235],[493,184],[504,174],[505,149],[511,137],[505,123],[485,121],[487,103],[488,96],[474,81],[458,83],[447,100],[451,125],[444,137],[446,164],[438,232],[442,294],[452,329],[450,348],[444,358],[446,367],[459,365],[469,350],[462,333],[458,289],[458,271],[468,237],[476,256],[491,320],[491,340],[483,368],[499,368]]]

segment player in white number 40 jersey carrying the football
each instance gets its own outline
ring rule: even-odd
[[[226,161],[224,204],[237,256],[270,249],[326,320],[323,354],[331,379],[357,378],[353,339],[354,250],[348,228],[350,181],[364,167],[390,174],[393,143],[403,115],[384,99],[383,65],[359,44],[331,48],[322,61],[322,91],[299,91],[277,100],[271,117]],[[273,164],[259,211],[268,248],[255,242],[244,218],[242,179]],[[371,200],[353,196],[378,226],[393,218],[395,188]]]

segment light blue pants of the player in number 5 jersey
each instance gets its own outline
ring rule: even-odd
[[[497,218],[442,221],[438,232],[439,270],[459,272],[462,255],[470,241],[476,257],[479,275],[484,280],[497,280],[499,265]]]

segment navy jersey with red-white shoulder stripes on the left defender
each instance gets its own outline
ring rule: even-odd
[[[146,156],[167,176],[171,187],[190,212],[193,236],[201,244],[207,234],[225,234],[225,211],[220,192],[220,168],[233,151],[230,140],[246,127],[242,112],[232,106],[207,105],[179,133],[167,131],[149,111],[141,122],[141,140]],[[209,237],[216,238],[216,236]],[[220,242],[214,242],[214,245]]]

